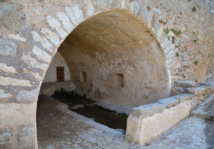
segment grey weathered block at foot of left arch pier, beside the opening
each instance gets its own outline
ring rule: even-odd
[[[16,134],[17,148],[35,148],[35,130],[33,124],[18,127],[18,133]]]

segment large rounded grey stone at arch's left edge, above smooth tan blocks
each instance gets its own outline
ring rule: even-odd
[[[39,91],[34,89],[32,91],[20,91],[16,96],[16,100],[21,103],[33,103],[37,101]]]

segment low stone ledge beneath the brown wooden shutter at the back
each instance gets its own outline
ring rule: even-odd
[[[76,89],[76,84],[74,82],[50,82],[42,83],[40,95],[52,96],[56,90],[61,88],[66,89],[67,91],[74,91]]]

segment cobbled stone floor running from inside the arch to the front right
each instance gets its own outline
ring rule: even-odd
[[[191,116],[147,146],[125,141],[119,131],[67,109],[47,96],[37,112],[40,149],[205,149],[214,148],[214,121]]]

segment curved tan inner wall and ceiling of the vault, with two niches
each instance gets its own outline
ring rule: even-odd
[[[72,80],[91,99],[133,107],[169,96],[163,50],[145,22],[128,10],[113,9],[86,19],[59,51],[73,72]],[[87,72],[87,83],[79,81],[81,71]],[[115,88],[117,74],[124,76],[124,89]]]

